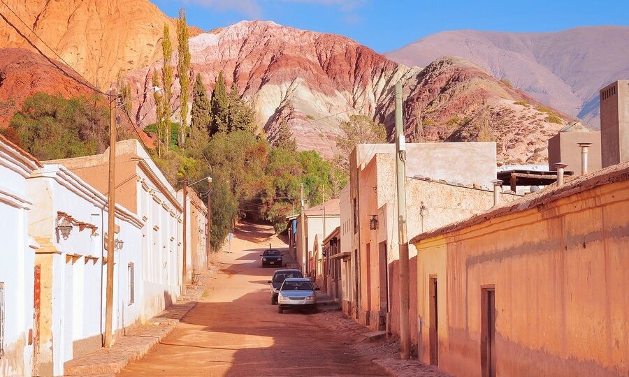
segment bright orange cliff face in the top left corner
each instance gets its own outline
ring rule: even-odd
[[[10,9],[0,3],[0,11],[10,24],[0,22],[0,47],[34,50],[17,28],[45,54],[55,57],[46,44],[52,47],[68,65],[101,89],[107,89],[119,73],[159,59],[164,24],[170,25],[175,40],[175,22],[147,0],[4,1]],[[191,35],[200,32],[192,29]]]

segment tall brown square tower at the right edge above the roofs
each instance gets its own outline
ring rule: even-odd
[[[600,89],[601,162],[606,168],[629,161],[629,80]]]

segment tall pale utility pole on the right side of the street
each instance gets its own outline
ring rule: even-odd
[[[400,357],[410,356],[408,236],[406,232],[406,141],[402,123],[402,84],[396,84],[396,170],[398,173],[398,248],[400,253]]]

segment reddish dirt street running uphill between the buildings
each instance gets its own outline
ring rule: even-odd
[[[120,376],[382,376],[384,369],[344,346],[346,339],[304,313],[277,313],[260,267],[268,244],[285,246],[264,226],[243,226],[233,253],[201,302],[146,357]],[[265,245],[265,246],[263,246]]]

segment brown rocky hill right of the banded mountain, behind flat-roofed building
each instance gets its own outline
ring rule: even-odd
[[[547,140],[570,119],[457,57],[428,64],[404,97],[412,140],[495,140],[505,163],[546,161]]]

